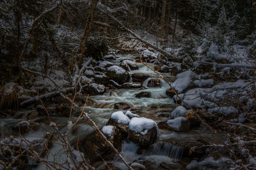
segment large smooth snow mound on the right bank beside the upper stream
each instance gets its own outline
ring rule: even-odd
[[[178,93],[181,93],[189,86],[191,79],[196,77],[197,76],[195,73],[193,73],[193,71],[184,71],[183,73],[179,73],[176,76],[177,79],[173,83],[173,88]]]

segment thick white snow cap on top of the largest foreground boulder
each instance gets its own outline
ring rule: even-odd
[[[134,117],[129,123],[129,130],[134,132],[140,132],[140,134],[147,134],[148,130],[156,127],[158,134],[158,127],[154,120],[145,117]]]

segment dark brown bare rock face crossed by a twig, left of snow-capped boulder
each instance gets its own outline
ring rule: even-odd
[[[113,146],[119,151],[122,150],[121,132],[118,128],[114,127],[113,134],[111,136],[106,135]],[[79,150],[84,153],[86,159],[90,160],[90,164],[102,161],[102,159],[108,161],[113,160],[116,153],[113,148],[109,146],[109,143],[105,141],[99,134],[94,131],[88,134],[79,141]]]

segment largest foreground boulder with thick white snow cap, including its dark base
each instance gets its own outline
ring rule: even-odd
[[[128,139],[138,146],[148,146],[158,140],[159,129],[154,120],[134,117],[129,123]]]

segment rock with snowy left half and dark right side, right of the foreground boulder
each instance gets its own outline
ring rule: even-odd
[[[179,132],[188,132],[190,129],[190,123],[184,117],[177,117],[172,120],[168,120],[167,124]]]

